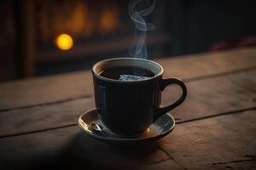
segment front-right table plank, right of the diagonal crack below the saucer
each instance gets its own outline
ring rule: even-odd
[[[256,111],[177,125],[158,144],[189,169],[255,169]]]

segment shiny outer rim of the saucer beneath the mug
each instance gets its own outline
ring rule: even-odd
[[[118,141],[124,141],[124,142],[148,141],[148,140],[160,139],[160,138],[165,137],[167,134],[171,133],[172,130],[174,129],[174,127],[176,126],[176,122],[175,122],[174,118],[172,117],[172,115],[169,114],[168,112],[166,112],[166,114],[167,114],[168,116],[170,116],[170,118],[172,119],[173,124],[172,124],[172,127],[171,127],[170,129],[168,129],[165,133],[160,133],[159,135],[154,135],[154,136],[149,136],[149,137],[144,137],[144,138],[136,138],[136,137],[135,137],[135,138],[124,138],[124,137],[118,137],[118,136],[117,136],[117,137],[109,137],[109,136],[104,137],[104,136],[98,135],[98,134],[96,134],[96,133],[91,133],[91,132],[89,132],[88,130],[86,130],[86,129],[83,127],[83,125],[82,125],[82,123],[81,123],[81,122],[84,122],[83,119],[82,119],[82,116],[84,116],[85,114],[88,114],[88,113],[90,113],[90,112],[92,112],[92,111],[96,111],[96,108],[90,109],[89,111],[84,111],[84,112],[79,116],[78,125],[79,125],[79,127],[81,128],[81,130],[82,130],[85,134],[87,134],[87,135],[89,135],[90,137],[95,138],[95,139],[102,139],[102,140],[113,141],[113,142],[116,142],[116,141],[117,141],[117,142],[118,142]]]

